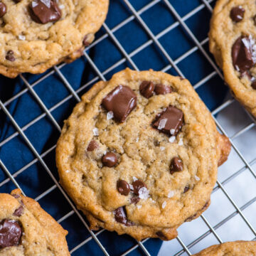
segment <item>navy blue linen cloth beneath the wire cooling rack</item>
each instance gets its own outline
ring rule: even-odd
[[[130,0],[130,2],[136,10],[139,10],[146,4],[149,4],[150,1]],[[188,14],[189,11],[192,11],[201,4],[199,0],[173,0],[170,2],[181,16]],[[130,15],[131,13],[123,1],[110,0],[110,12],[106,21],[107,26],[113,28]],[[176,21],[162,2],[144,12],[142,18],[155,35]],[[198,11],[197,14],[188,18],[186,24],[191,28],[191,31],[193,31],[198,40],[203,41],[203,39],[207,37],[209,20],[210,12],[204,7],[201,11]],[[97,38],[100,38],[103,34],[105,34],[104,28],[97,33]],[[127,53],[131,53],[150,39],[142,26],[139,26],[139,23],[135,19],[117,30],[114,36],[117,37]],[[195,46],[181,26],[176,26],[176,28],[162,36],[159,41],[174,60]],[[208,51],[207,43],[203,47]],[[101,72],[104,72],[111,65],[123,58],[122,53],[119,52],[117,46],[114,45],[109,37],[91,48],[87,53],[89,53],[90,58],[92,58]],[[147,70],[149,68],[161,70],[169,64],[168,60],[166,60],[159,48],[154,44],[147,46],[144,50],[134,55],[132,60],[134,60],[134,63],[136,63],[140,70]],[[131,68],[131,65],[127,61],[105,74],[105,78],[109,80],[114,73],[126,67]],[[198,50],[178,63],[178,68],[181,69],[183,74],[193,85],[196,85],[197,82],[214,71],[213,67]],[[33,82],[36,82],[50,71],[51,70],[48,70],[45,74],[41,75],[24,74],[24,77],[33,85]],[[84,87],[84,85],[97,76],[95,70],[92,69],[84,57],[76,60],[74,63],[64,65],[60,71],[65,75],[65,78],[67,78],[74,90],[78,90],[82,87],[82,90],[78,93],[80,96],[85,93],[94,82],[90,83],[87,87]],[[177,75],[174,68],[167,70],[167,73]],[[18,92],[22,92],[24,89],[26,89],[26,85],[24,85],[21,78],[11,80],[3,76],[0,77],[0,100],[2,102],[8,101],[11,97]],[[73,97],[65,100],[65,98],[70,95],[70,92],[67,90],[62,80],[60,80],[56,73],[53,73],[53,75],[49,75],[48,78],[35,85],[33,89],[38,96],[41,97],[41,100],[43,100],[48,109],[54,107],[51,114],[53,114],[53,117],[57,120],[58,124],[60,124],[60,127],[62,127],[63,120],[69,116],[76,103]],[[226,90],[223,81],[215,75],[208,80],[208,82],[201,85],[201,87],[198,87],[197,92],[209,109],[213,110],[223,101]],[[61,100],[65,100],[65,102],[59,106],[55,106]],[[33,119],[40,117],[44,113],[30,92],[23,93],[20,97],[17,97],[16,100],[12,100],[10,104],[7,104],[6,107],[14,116],[20,127],[24,127]],[[35,159],[31,149],[28,148],[20,135],[14,136],[12,139],[9,139],[8,142],[4,143],[4,141],[10,136],[13,136],[15,132],[16,129],[11,125],[10,120],[6,117],[4,112],[0,110],[0,145],[4,144],[0,147],[0,159],[4,162],[11,174],[15,174],[16,171]],[[54,146],[59,137],[58,129],[54,127],[53,123],[50,122],[50,119],[46,116],[41,117],[38,122],[27,127],[25,134],[39,154],[43,154]],[[55,167],[54,149],[48,152],[48,154],[43,157],[43,160],[46,161],[46,164],[53,172],[55,178],[58,179],[58,172]],[[5,181],[6,178],[7,176],[4,174],[4,171],[0,170],[0,183]],[[38,161],[30,164],[25,171],[18,174],[16,181],[18,181],[26,195],[32,198],[36,198],[54,185],[52,179]],[[4,183],[3,186],[0,186],[0,192],[9,193],[14,188],[14,184],[9,181]],[[41,198],[39,203],[41,203],[41,206],[48,211],[50,215],[53,215],[56,220],[69,213],[71,210],[58,189],[54,189],[48,193],[47,196]],[[76,215],[71,215],[64,220],[61,225],[69,231],[67,239],[70,250],[90,236],[90,233],[88,233]],[[137,242],[128,235],[118,236],[116,233],[107,231],[98,235],[98,238],[110,255],[120,255],[130,247],[137,245]],[[161,241],[159,239],[150,239],[147,240],[144,245],[151,255],[157,255]],[[79,250],[76,250],[73,255],[103,255],[103,253],[92,239],[90,242],[87,242],[86,245],[80,247]],[[129,255],[143,255],[143,253],[141,249],[137,248]]]

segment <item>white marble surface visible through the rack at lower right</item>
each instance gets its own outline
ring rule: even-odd
[[[250,117],[238,102],[232,103],[225,108],[220,114],[218,114],[218,122],[228,133],[228,137],[233,137],[234,134],[239,132],[242,128],[252,123]],[[240,136],[233,139],[233,143],[237,146],[242,156],[250,162],[256,158],[256,128],[252,127],[247,132],[240,134]],[[218,171],[218,181],[223,182],[229,176],[235,174],[236,171],[242,169],[245,166],[240,156],[232,149],[228,161],[220,166]],[[252,165],[253,171],[256,173],[256,163]],[[238,176],[231,179],[225,185],[225,190],[228,192],[233,201],[238,207],[242,207],[252,198],[256,197],[256,178],[252,175],[249,169],[241,171]],[[204,217],[208,220],[210,225],[218,225],[222,220],[227,218],[230,214],[235,213],[235,208],[228,200],[225,193],[218,189],[211,196],[211,204],[208,210],[203,213]],[[256,230],[256,202],[242,210],[248,221]],[[191,223],[184,223],[178,228],[178,235],[185,245],[189,245],[191,242],[199,238],[201,235],[209,230],[206,223],[202,218],[193,220]],[[239,214],[236,214],[233,218],[230,218],[227,222],[215,229],[215,232],[219,235],[223,242],[233,240],[252,240],[255,235],[248,228],[245,221]],[[213,233],[207,235],[200,242],[190,247],[190,252],[196,253],[210,245],[217,244],[218,240]],[[159,251],[159,256],[175,255],[182,247],[178,240],[171,240],[164,242]],[[182,255],[187,255],[186,252]]]

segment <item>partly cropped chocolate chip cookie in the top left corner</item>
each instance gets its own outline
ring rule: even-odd
[[[92,43],[109,0],[3,0],[0,2],[0,73],[43,73],[71,62]]]

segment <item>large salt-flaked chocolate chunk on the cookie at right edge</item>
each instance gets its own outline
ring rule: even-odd
[[[252,45],[248,36],[240,36],[232,47],[233,65],[236,70],[243,73],[252,68]]]

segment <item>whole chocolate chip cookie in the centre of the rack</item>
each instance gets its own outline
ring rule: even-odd
[[[82,96],[56,161],[93,230],[170,240],[208,208],[229,151],[188,80],[126,69]]]

